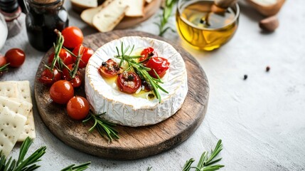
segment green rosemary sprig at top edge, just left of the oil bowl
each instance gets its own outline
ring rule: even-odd
[[[165,6],[164,6],[164,10],[163,10],[163,14],[160,17],[160,23],[154,23],[157,26],[159,26],[159,36],[163,36],[164,33],[168,30],[171,29],[171,31],[174,31],[173,28],[171,28],[170,26],[166,27],[166,24],[168,23],[168,19],[171,16],[171,13],[173,11],[173,5],[176,4],[178,0],[166,0]]]

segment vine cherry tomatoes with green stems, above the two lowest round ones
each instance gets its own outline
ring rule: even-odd
[[[77,88],[82,84],[82,77],[78,70],[87,66],[94,51],[82,45],[83,35],[80,28],[75,26],[67,27],[62,31],[62,36],[64,39],[63,47],[65,48],[60,49],[58,53],[59,59],[55,58],[55,53],[50,54],[48,58],[49,66],[41,73],[41,77],[38,80],[41,83],[52,85],[62,79],[69,81],[73,88]],[[77,60],[78,56],[80,56],[80,61]]]

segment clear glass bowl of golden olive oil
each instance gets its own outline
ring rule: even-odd
[[[176,26],[179,35],[191,46],[213,51],[228,42],[238,26],[238,4],[214,10],[213,0],[179,0]]]

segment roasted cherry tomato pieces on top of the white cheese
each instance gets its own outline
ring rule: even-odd
[[[144,66],[151,69],[148,72],[151,77],[164,77],[169,68],[169,62],[166,58],[159,57],[158,53],[151,47],[144,48],[144,50],[141,51],[141,56],[142,57],[139,58],[139,63],[143,63]],[[122,71],[122,69],[119,68],[119,64],[110,58],[102,63],[98,71],[104,78],[113,78],[117,76],[117,87],[124,93],[135,93],[142,85],[144,86],[144,90],[151,90],[149,83],[146,83],[143,79],[141,80],[137,73],[133,71]]]

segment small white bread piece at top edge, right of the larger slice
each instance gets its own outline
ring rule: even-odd
[[[145,0],[121,0],[122,4],[129,6],[125,16],[144,16]]]

